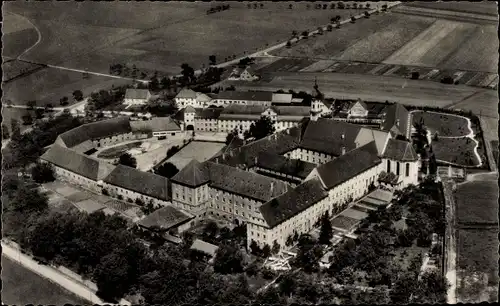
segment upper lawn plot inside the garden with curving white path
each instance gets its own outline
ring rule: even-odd
[[[424,126],[432,135],[437,132],[439,136],[457,137],[466,136],[470,133],[465,117],[435,112],[413,112],[413,124],[420,122],[420,120],[423,120]]]

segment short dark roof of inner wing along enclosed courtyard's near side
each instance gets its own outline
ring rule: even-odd
[[[300,159],[289,159],[284,156],[261,152],[257,157],[257,167],[305,179],[316,167]]]

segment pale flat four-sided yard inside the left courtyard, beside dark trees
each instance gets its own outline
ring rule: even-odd
[[[192,159],[196,159],[199,162],[210,159],[217,154],[222,147],[224,147],[224,143],[193,141],[169,158],[167,162],[171,162],[180,170]]]

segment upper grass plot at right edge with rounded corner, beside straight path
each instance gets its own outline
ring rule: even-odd
[[[473,181],[455,191],[458,222],[498,222],[498,182]]]

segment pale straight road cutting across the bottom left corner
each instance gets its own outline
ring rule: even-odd
[[[50,281],[60,285],[66,290],[93,304],[105,304],[103,300],[101,300],[92,290],[90,290],[83,284],[69,278],[68,276],[64,275],[51,266],[39,264],[30,256],[21,253],[17,248],[11,246],[9,243],[7,243],[7,241],[4,240],[2,240],[2,254],[19,263],[20,265],[26,267],[27,269],[35,272],[36,274],[49,279]],[[130,302],[122,299],[120,301],[120,304],[130,305]]]

